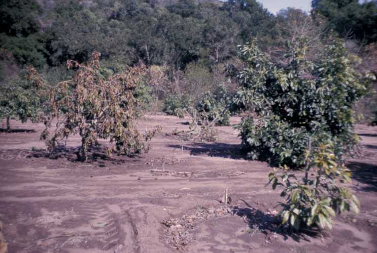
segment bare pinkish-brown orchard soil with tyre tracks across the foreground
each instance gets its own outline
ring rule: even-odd
[[[0,133],[9,252],[376,252],[377,128],[357,126],[362,153],[348,162],[361,214],[313,236],[278,229],[283,199],[264,187],[270,168],[238,152],[231,126],[218,128],[217,143],[181,143],[166,134],[188,129],[185,119],[149,115],[140,128],[156,124],[163,133],[150,153],[108,159],[92,150],[81,163],[78,137],[64,143],[66,153],[46,157],[43,125],[12,121],[18,131]],[[226,188],[228,206],[219,201]]]

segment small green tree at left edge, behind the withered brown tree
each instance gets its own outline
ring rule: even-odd
[[[42,98],[36,87],[22,76],[6,80],[0,85],[0,119],[6,119],[7,131],[10,131],[10,119],[26,122],[38,121]]]

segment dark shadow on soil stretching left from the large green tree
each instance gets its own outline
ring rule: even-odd
[[[181,149],[181,145],[169,145],[169,147]],[[211,157],[247,159],[247,154],[242,151],[241,147],[241,144],[195,142],[189,145],[184,145],[183,149],[188,150],[190,152],[190,155],[207,155]]]

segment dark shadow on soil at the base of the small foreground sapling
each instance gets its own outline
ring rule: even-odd
[[[288,226],[281,225],[281,217],[272,215],[269,212],[262,212],[248,205],[249,207],[242,208],[234,206],[232,209],[233,215],[239,216],[244,219],[251,230],[260,231],[263,234],[277,233],[284,237],[284,240],[292,238],[300,242],[301,240],[310,242],[309,238],[318,237],[319,232],[307,231],[296,232]],[[309,238],[308,238],[309,237]]]

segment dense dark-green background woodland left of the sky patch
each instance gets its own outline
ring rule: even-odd
[[[84,62],[94,50],[113,65],[143,61],[184,69],[201,61],[210,67],[234,57],[235,45],[252,37],[270,41],[275,27],[255,0],[12,0],[0,6],[2,48],[18,64],[35,67]]]

